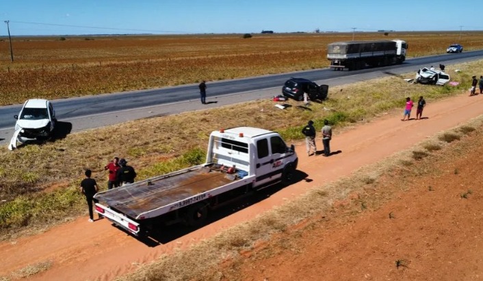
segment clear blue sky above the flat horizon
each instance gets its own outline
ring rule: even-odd
[[[12,36],[483,30],[480,0],[4,0]],[[7,26],[0,27],[0,36]]]

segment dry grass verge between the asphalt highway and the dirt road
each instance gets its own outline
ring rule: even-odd
[[[252,101],[73,133],[65,139],[41,146],[23,146],[14,152],[4,147],[0,150],[3,161],[0,200],[7,203],[0,204],[1,232],[17,233],[18,228],[53,224],[55,217],[82,213],[84,208],[77,188],[83,170],[90,168],[99,186],[105,188],[107,173],[103,167],[116,155],[127,158],[142,179],[195,163],[190,159],[203,158],[209,132],[222,127],[263,126],[280,132],[289,142],[303,137],[300,126],[306,124],[306,120],[315,120],[315,125],[322,126],[323,120],[328,119],[342,130],[351,123],[402,107],[406,96],[417,97],[425,92],[426,101],[431,103],[459,94],[467,88],[467,78],[480,63],[447,66],[462,70],[454,77],[460,85],[452,88],[416,85],[400,78],[385,77],[331,88],[329,99],[323,104],[313,103],[312,111],[297,107],[296,101],[288,101],[293,106],[285,110],[274,107],[272,101]],[[390,89],[388,84],[392,85]],[[324,107],[331,110],[326,111]],[[280,123],[280,120],[285,121]],[[129,138],[120,131],[129,132]],[[147,137],[146,132],[149,132]],[[32,166],[21,159],[38,160]],[[51,216],[53,211],[57,213],[55,217]]]

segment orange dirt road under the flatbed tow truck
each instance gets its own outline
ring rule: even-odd
[[[482,113],[483,96],[470,98],[462,94],[439,103],[428,103],[423,114],[428,119],[402,122],[401,109],[397,114],[388,114],[374,122],[360,124],[344,133],[335,131],[331,148],[341,150],[341,153],[332,157],[306,157],[304,144],[298,144],[298,169],[308,174],[312,181],[301,181],[286,187],[270,198],[164,245],[148,247],[112,227],[107,220],[90,224],[87,222],[88,217],[81,217],[41,235],[1,243],[3,262],[0,263],[0,276],[8,276],[12,271],[27,265],[51,260],[53,264],[49,270],[31,279],[111,280],[133,271],[141,263],[170,253],[178,247],[209,238],[229,226],[283,204],[285,200],[311,187],[347,176],[363,165],[380,161],[434,133],[465,123]],[[320,139],[317,140],[317,146],[319,150],[322,149]]]

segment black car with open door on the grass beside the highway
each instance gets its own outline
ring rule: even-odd
[[[309,94],[311,101],[323,101],[327,98],[328,85],[317,85],[317,83],[303,78],[291,78],[285,82],[282,88],[284,96],[296,101],[304,100],[304,92]]]

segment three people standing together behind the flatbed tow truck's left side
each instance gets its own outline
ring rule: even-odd
[[[136,172],[134,168],[127,165],[126,159],[114,157],[112,161],[105,165],[104,170],[109,170],[109,179],[107,181],[107,189],[113,189],[129,183],[134,183]],[[81,193],[86,196],[89,208],[89,222],[94,222],[94,212],[92,211],[93,202],[96,202],[94,195],[99,191],[99,186],[94,178],[91,178],[92,171],[87,169],[84,172],[86,178],[81,181]],[[102,216],[99,215],[99,219]]]

